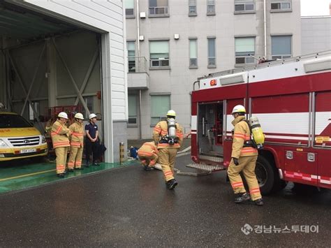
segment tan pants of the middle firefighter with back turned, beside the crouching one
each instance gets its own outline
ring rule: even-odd
[[[162,148],[159,149],[159,163],[162,166],[165,182],[174,179],[174,166],[176,159],[176,148]]]

